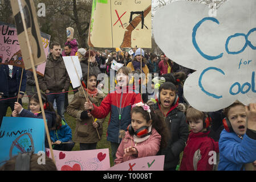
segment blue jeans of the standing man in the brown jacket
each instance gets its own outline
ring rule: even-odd
[[[57,113],[60,117],[64,118],[65,93],[47,94],[47,100],[51,102],[52,105],[54,104],[54,99],[56,100]]]

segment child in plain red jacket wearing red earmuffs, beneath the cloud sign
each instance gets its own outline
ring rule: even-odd
[[[193,107],[186,110],[186,118],[191,133],[184,148],[180,171],[212,171],[214,161],[210,158],[214,156],[214,151],[219,151],[218,142],[208,137],[210,131],[206,130],[211,119]]]

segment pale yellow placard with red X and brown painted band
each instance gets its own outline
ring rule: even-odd
[[[93,1],[88,45],[151,48],[151,0]]]

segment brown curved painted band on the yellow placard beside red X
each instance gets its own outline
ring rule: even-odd
[[[144,13],[144,18],[151,12],[151,5],[147,7],[147,9],[145,9],[143,11]],[[135,30],[135,28],[139,25],[139,23],[142,23],[142,15],[138,15],[136,16],[132,22],[126,27],[126,30],[124,32],[124,39],[123,39],[123,43],[121,44],[121,48],[124,47],[132,47],[132,31]],[[142,25],[143,26],[143,25]]]

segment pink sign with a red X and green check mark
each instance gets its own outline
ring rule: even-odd
[[[163,171],[164,155],[148,156],[116,164],[108,171]]]

